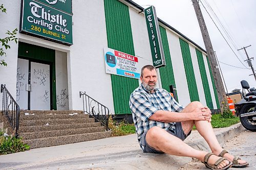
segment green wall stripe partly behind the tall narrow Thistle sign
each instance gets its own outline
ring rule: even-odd
[[[175,79],[174,79],[174,70],[173,70],[172,59],[170,58],[169,43],[167,39],[166,30],[161,26],[159,26],[159,29],[160,29],[160,34],[161,34],[161,39],[163,44],[163,52],[164,52],[165,63],[166,63],[166,66],[159,68],[159,71],[160,71],[162,88],[169,91],[170,90],[169,85],[174,85],[176,87]]]

